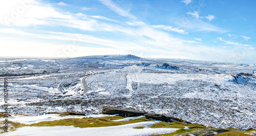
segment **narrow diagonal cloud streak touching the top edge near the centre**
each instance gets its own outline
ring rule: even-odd
[[[118,15],[124,16],[124,17],[129,17],[131,19],[136,19],[135,16],[129,13],[129,11],[124,11],[120,7],[116,6],[111,0],[98,0],[101,2],[103,5],[106,7],[110,8],[114,12],[116,12]]]

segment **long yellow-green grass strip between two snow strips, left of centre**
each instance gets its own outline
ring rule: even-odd
[[[103,117],[103,118],[81,118],[81,119],[62,119],[55,121],[43,121],[39,123],[34,123],[29,126],[75,126],[75,127],[103,127],[103,126],[118,126],[124,124],[138,123],[151,121],[146,118],[134,119],[129,121],[111,121],[116,119],[121,119],[122,117]]]

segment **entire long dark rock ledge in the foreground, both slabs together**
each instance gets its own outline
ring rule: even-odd
[[[178,122],[184,122],[187,124],[191,124],[190,122],[184,121],[179,118],[165,116],[162,114],[146,113],[146,112],[131,110],[131,109],[127,109],[127,108],[103,107],[102,114],[109,114],[109,115],[119,114],[119,116],[123,116],[123,117],[136,117],[136,116],[143,115],[147,119],[160,120],[160,121],[164,121],[164,122],[178,121]]]

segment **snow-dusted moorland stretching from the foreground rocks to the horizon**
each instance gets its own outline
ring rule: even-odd
[[[1,88],[7,78],[13,114],[74,111],[92,115],[99,114],[102,106],[120,106],[206,126],[256,128],[256,65],[119,55],[0,59],[0,66]],[[79,95],[81,79],[92,72],[86,79],[89,92]],[[79,96],[68,98],[74,95]],[[36,127],[26,129],[32,132]]]

